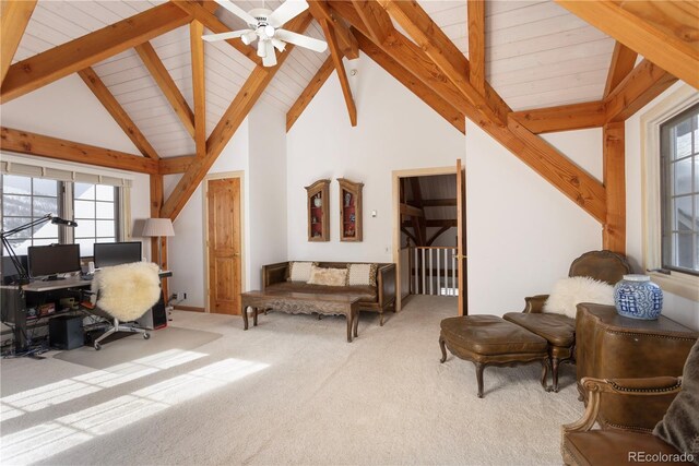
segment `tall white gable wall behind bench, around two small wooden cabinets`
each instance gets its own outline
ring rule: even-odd
[[[392,262],[392,171],[455,166],[464,135],[362,55],[348,69],[358,124],[333,73],[287,133],[288,258]],[[328,178],[330,241],[309,242],[304,187]],[[364,182],[364,241],[340,242],[336,178]],[[376,218],[370,212],[376,210]]]

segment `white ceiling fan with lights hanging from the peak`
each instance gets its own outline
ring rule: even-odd
[[[240,37],[245,45],[250,45],[258,40],[258,57],[262,58],[264,67],[276,65],[276,48],[284,51],[286,43],[305,47],[315,51],[325,51],[328,44],[323,40],[282,29],[282,26],[293,17],[308,9],[306,0],[286,0],[276,10],[268,10],[265,8],[256,8],[246,12],[230,0],[215,0],[221,7],[225,8],[236,16],[245,21],[250,28],[232,31],[229,33],[209,34],[202,36],[206,41],[226,40]]]

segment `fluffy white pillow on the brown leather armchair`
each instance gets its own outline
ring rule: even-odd
[[[580,302],[614,304],[614,287],[590,277],[559,279],[544,303],[544,312],[576,319],[576,306]]]

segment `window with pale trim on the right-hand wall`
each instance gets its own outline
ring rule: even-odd
[[[699,93],[689,85],[641,116],[643,268],[699,301]]]

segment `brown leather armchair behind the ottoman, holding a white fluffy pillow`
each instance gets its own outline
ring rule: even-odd
[[[631,266],[624,255],[605,250],[585,252],[572,261],[568,276],[587,276],[614,285],[629,273],[631,273]],[[576,321],[561,314],[544,313],[546,299],[548,295],[526,297],[522,312],[508,312],[503,319],[548,340],[552,390],[558,392],[560,362],[574,361]]]

